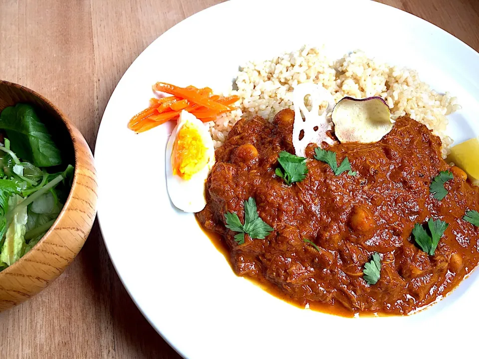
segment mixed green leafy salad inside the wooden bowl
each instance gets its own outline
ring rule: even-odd
[[[16,104],[1,112],[0,271],[51,227],[72,178],[73,166],[62,163],[60,150],[31,105]]]

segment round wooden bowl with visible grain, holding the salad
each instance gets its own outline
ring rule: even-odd
[[[64,156],[64,163],[75,166],[75,174],[68,199],[55,223],[30,251],[0,272],[0,311],[40,292],[65,270],[85,243],[96,214],[93,155],[81,133],[43,96],[0,80],[0,111],[18,102],[35,106]]]

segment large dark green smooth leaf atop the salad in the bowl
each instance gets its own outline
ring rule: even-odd
[[[46,126],[28,104],[16,104],[0,114],[0,129],[6,131],[11,150],[36,167],[61,165],[60,151]]]

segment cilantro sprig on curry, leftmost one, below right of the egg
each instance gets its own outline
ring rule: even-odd
[[[225,213],[225,226],[233,232],[239,232],[235,235],[235,242],[244,243],[244,233],[248,234],[251,239],[264,239],[273,228],[259,218],[256,208],[256,201],[253,197],[249,197],[244,201],[244,225],[241,224],[238,214],[232,212]]]

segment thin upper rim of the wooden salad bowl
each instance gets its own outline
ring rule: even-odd
[[[41,239],[38,241],[38,243],[35,244],[34,247],[37,247],[39,245],[41,245],[41,243],[43,243],[46,238],[52,233],[53,229],[58,225],[58,223],[62,220],[65,212],[66,212],[66,208],[69,206],[70,202],[71,202],[71,198],[73,196],[73,189],[76,187],[77,185],[77,182],[78,182],[78,166],[77,166],[77,163],[78,163],[78,152],[80,151],[80,147],[78,145],[78,142],[77,140],[75,139],[75,136],[74,136],[74,133],[73,133],[73,129],[72,129],[72,123],[71,121],[68,119],[68,117],[60,111],[60,109],[58,109],[50,100],[48,100],[46,97],[44,97],[43,95],[40,95],[38,92],[36,91],[33,91],[31,89],[29,89],[28,87],[25,87],[23,85],[20,85],[20,84],[17,84],[17,83],[14,83],[14,82],[10,82],[10,81],[5,81],[5,80],[0,80],[0,85],[6,85],[7,87],[11,86],[11,87],[16,87],[17,89],[19,89],[20,91],[26,91],[28,92],[29,94],[37,97],[39,100],[41,100],[42,102],[44,102],[48,107],[50,107],[53,112],[55,112],[55,114],[61,119],[61,122],[63,123],[63,125],[65,125],[66,129],[68,130],[68,135],[70,136],[70,141],[73,145],[73,154],[74,154],[74,159],[75,159],[75,165],[74,165],[74,169],[73,169],[73,179],[72,179],[72,183],[71,183],[71,188],[70,188],[70,192],[68,193],[68,197],[65,201],[65,203],[63,204],[63,208],[61,209],[60,213],[58,214],[58,216],[56,217],[55,221],[53,222],[53,224],[51,225],[51,227],[46,231],[46,233],[43,235],[43,237],[41,237]],[[15,270],[16,268],[19,267],[19,265],[21,265],[21,262],[22,262],[22,259],[25,258],[25,259],[28,259],[30,255],[33,255],[34,252],[33,251],[28,251],[26,254],[24,254],[23,256],[21,256],[20,258],[18,258],[18,260],[16,262],[14,262],[13,264],[9,265],[8,267],[4,268],[3,270],[0,271],[0,279],[2,277],[5,276],[5,274],[7,272],[9,272],[10,270]]]

